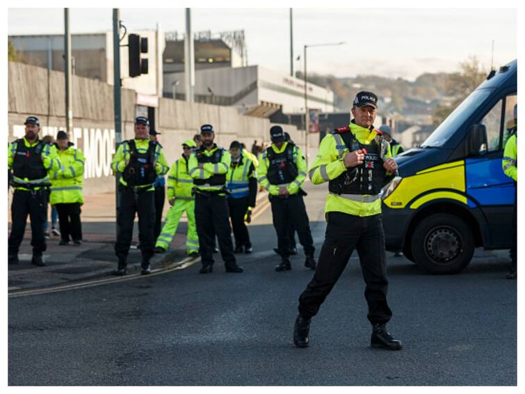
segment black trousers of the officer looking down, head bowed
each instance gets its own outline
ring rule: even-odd
[[[273,227],[277,233],[277,249],[282,257],[290,255],[291,226],[297,231],[299,242],[305,249],[305,255],[313,255],[314,240],[310,232],[308,214],[306,213],[305,200],[300,194],[282,198],[270,196],[272,206]]]

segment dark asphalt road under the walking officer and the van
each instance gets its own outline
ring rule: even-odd
[[[321,187],[307,185],[316,246]],[[277,273],[270,211],[250,226],[256,253],[243,274],[199,264],[170,274],[9,299],[10,385],[515,385],[516,281],[506,258],[480,252],[462,274],[429,276],[389,253],[389,331],[405,348],[369,347],[364,282],[353,256],[312,321],[311,344],[292,342],[297,299],[312,277]],[[316,253],[317,255],[317,253]]]

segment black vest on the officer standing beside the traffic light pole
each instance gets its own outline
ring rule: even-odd
[[[157,143],[150,141],[145,153],[138,152],[134,139],[126,141],[129,146],[129,164],[122,172],[122,179],[129,187],[145,186],[156,180],[155,172],[155,150]]]

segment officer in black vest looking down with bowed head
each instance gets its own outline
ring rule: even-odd
[[[293,143],[285,141],[284,131],[280,126],[270,128],[272,145],[261,153],[259,159],[259,184],[268,191],[272,207],[273,226],[277,233],[277,249],[281,262],[275,271],[291,269],[290,222],[299,235],[299,241],[305,250],[305,267],[315,269],[314,242],[310,233],[309,219],[302,196],[302,182],[306,178],[306,160],[302,150]]]

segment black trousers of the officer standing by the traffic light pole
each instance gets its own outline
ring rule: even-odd
[[[143,265],[146,265],[152,258],[155,245],[154,191],[120,186],[119,193],[120,208],[117,214],[118,234],[115,254],[119,258],[119,264],[124,265],[133,237],[135,214],[138,214],[138,241],[140,242]]]

